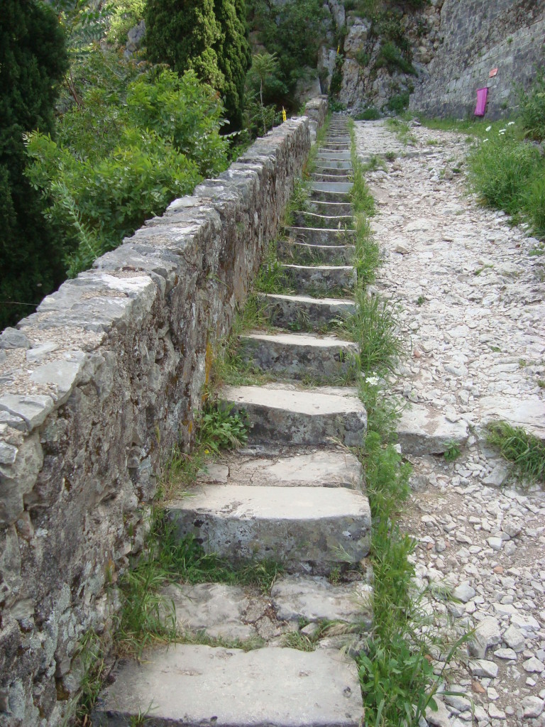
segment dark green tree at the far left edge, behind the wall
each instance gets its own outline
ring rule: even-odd
[[[32,313],[64,278],[62,245],[24,176],[23,134],[51,132],[68,68],[57,17],[34,0],[3,0],[0,15],[0,329]],[[33,304],[33,305],[32,305]]]

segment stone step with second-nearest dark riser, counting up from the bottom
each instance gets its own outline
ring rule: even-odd
[[[249,441],[318,445],[338,441],[361,446],[367,414],[352,387],[298,389],[288,384],[227,386],[220,396],[246,411]]]

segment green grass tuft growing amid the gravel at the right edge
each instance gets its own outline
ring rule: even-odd
[[[545,483],[545,444],[536,436],[508,422],[491,422],[487,439],[512,462],[515,475],[530,482]]]

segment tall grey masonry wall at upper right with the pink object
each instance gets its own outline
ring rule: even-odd
[[[515,84],[528,87],[536,65],[544,66],[545,4],[445,0],[440,36],[443,44],[416,84],[411,110],[429,116],[472,116],[477,89],[488,87],[486,119],[498,119],[514,110]],[[493,68],[498,74],[489,78]]]

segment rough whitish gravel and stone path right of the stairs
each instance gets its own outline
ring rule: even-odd
[[[382,121],[356,124],[362,158],[396,154],[367,177],[384,252],[376,289],[400,303],[410,350],[392,389],[472,432],[455,462],[411,457],[405,527],[417,577],[447,582],[457,598],[430,601],[429,614],[451,636],[476,628],[449,671],[467,699],[445,696],[429,724],[542,727],[545,494],[516,489],[483,427],[507,419],[545,438],[543,258],[528,254],[536,241],[525,230],[467,193],[463,136],[411,132],[403,147]]]

